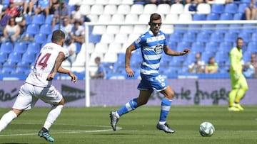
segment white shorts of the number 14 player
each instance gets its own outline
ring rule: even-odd
[[[59,104],[63,96],[54,86],[36,87],[32,84],[24,83],[17,96],[12,109],[29,110],[34,107],[36,101],[41,99],[47,104]]]

